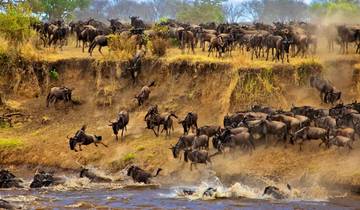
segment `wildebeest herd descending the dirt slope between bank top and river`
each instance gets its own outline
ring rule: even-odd
[[[184,160],[191,161],[191,168],[196,163],[210,163],[212,156],[226,150],[235,151],[236,148],[240,148],[251,153],[259,144],[268,147],[272,139],[276,140],[276,144],[283,143],[285,147],[288,144],[299,144],[300,150],[303,144],[310,140],[321,140],[319,146],[325,145],[326,148],[335,145],[353,149],[353,142],[360,135],[360,103],[345,105],[338,103],[341,101],[341,92],[330,81],[320,76],[311,76],[309,83],[320,93],[321,102],[332,104],[332,108],[294,106],[291,110],[281,110],[254,105],[250,110],[225,115],[223,127],[220,125],[199,127],[198,114],[195,112],[188,112],[183,119],[179,119],[174,111],[160,113],[158,105],[153,105],[149,107],[144,117],[146,129],[152,130],[155,136],[159,136],[164,131],[166,136],[170,136],[176,119],[183,129],[183,135],[170,149],[174,158],[181,157],[180,153],[183,152]],[[144,105],[149,99],[152,86],[155,86],[155,81],[144,86],[135,96],[138,106]],[[47,101],[49,98],[54,98],[55,102],[57,99],[64,102],[71,101],[71,97],[68,96],[69,88],[52,88],[51,92],[54,90],[57,94],[50,93]],[[121,130],[121,138],[124,139],[124,131],[127,130],[129,120],[129,112],[123,110],[115,121],[110,121],[109,126],[112,127],[116,140],[119,130]],[[88,135],[85,133],[85,128],[83,126],[69,138],[71,150],[77,151],[76,145],[79,145],[81,150],[81,145],[92,143],[95,146],[98,143],[106,146],[101,142],[101,136]],[[211,155],[208,153],[210,139],[216,151]]]

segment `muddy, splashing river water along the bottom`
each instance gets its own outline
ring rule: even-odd
[[[263,189],[240,182],[223,184],[216,176],[196,184],[96,184],[64,177],[58,186],[0,191],[0,197],[22,209],[359,209],[360,197],[322,192],[317,187],[284,190],[276,200]],[[26,181],[25,181],[26,182]],[[209,189],[212,189],[209,191]],[[281,187],[280,187],[281,188]],[[191,192],[191,193],[190,193]]]

